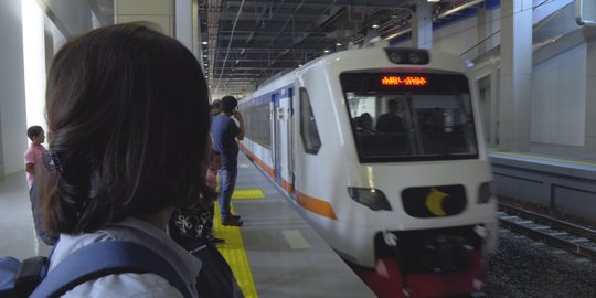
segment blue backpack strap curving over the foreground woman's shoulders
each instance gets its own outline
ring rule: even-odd
[[[131,242],[96,242],[64,258],[35,288],[31,298],[60,297],[74,287],[103,276],[153,273],[192,297],[178,272],[156,252]]]

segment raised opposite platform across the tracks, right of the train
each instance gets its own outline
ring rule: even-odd
[[[596,222],[596,149],[532,143],[488,151],[497,195]]]

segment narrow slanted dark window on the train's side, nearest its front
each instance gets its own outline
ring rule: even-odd
[[[321,148],[321,139],[308,92],[304,87],[300,88],[300,136],[307,153],[317,155]]]

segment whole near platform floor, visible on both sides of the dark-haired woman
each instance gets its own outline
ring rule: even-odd
[[[244,225],[222,226],[217,212],[214,224],[245,297],[375,297],[277,188],[243,153],[238,159],[232,205]],[[0,182],[0,256],[51,251],[35,235],[24,172]]]

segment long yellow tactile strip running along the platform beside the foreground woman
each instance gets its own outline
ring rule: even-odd
[[[263,193],[263,192],[262,192]],[[234,212],[234,206],[231,205],[232,213]],[[215,228],[215,234],[220,238],[224,238],[223,244],[217,245],[217,249],[223,255],[232,272],[238,281],[238,285],[244,294],[245,298],[258,298],[258,295],[255,289],[255,281],[253,279],[253,273],[248,266],[248,258],[246,257],[246,252],[244,251],[244,242],[242,241],[241,227],[237,226],[224,226],[221,224],[221,214],[220,205],[215,203],[213,226]]]

